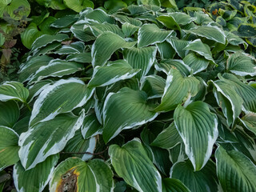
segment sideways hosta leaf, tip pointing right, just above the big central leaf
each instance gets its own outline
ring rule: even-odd
[[[110,62],[107,66],[96,66],[88,87],[108,86],[114,82],[132,78],[138,72],[139,70],[134,70],[124,60]]]

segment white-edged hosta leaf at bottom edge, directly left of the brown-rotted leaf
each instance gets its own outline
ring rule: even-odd
[[[25,170],[21,162],[14,165],[14,185],[18,191],[41,192],[54,173],[58,155],[51,155],[33,169]],[[30,178],[30,179],[27,179]]]

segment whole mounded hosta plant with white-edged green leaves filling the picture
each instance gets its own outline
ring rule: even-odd
[[[0,86],[18,191],[256,191],[255,58],[169,3],[86,8],[33,42]]]

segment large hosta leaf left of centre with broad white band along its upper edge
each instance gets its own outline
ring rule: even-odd
[[[53,85],[43,90],[34,102],[30,126],[33,126],[36,122],[50,120],[57,114],[70,112],[74,108],[83,106],[90,99],[93,92],[77,78],[54,82]]]

